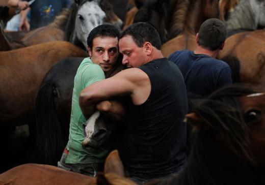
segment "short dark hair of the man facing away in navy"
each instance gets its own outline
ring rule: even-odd
[[[216,18],[207,19],[200,26],[198,45],[214,51],[224,43],[226,34],[226,26],[223,21]]]

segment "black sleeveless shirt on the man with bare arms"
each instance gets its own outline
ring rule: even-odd
[[[149,77],[151,92],[133,106],[127,126],[125,169],[129,176],[150,179],[176,173],[186,158],[187,94],[178,67],[160,58],[139,67]]]

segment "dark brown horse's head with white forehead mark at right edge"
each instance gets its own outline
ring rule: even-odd
[[[237,84],[215,91],[186,116],[193,130],[213,136],[225,153],[264,166],[264,89]]]

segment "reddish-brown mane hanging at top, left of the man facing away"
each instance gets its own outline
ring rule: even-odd
[[[183,32],[185,27],[185,20],[187,18],[189,0],[178,0],[174,7],[174,14],[172,18],[173,24],[170,28],[168,39],[172,39]]]

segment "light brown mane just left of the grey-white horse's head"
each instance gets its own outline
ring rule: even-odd
[[[48,26],[57,27],[64,31],[69,16],[70,16],[70,10],[68,8],[64,8],[63,11],[58,16],[56,16],[54,21],[51,22]]]

